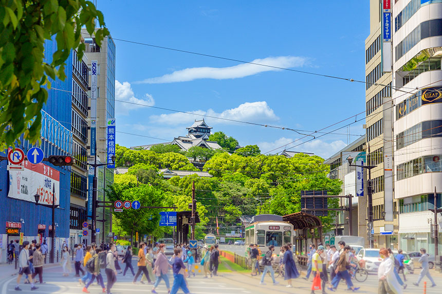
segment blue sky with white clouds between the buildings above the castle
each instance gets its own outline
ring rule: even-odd
[[[98,8],[117,39],[365,80],[368,1],[101,0]],[[365,109],[362,83],[115,43],[117,100],[308,131]],[[200,118],[116,102],[121,132],[172,140],[186,135],[186,127]],[[223,131],[243,146],[257,144],[262,152],[301,137],[292,131],[212,118],[206,122],[213,132]],[[363,134],[362,123],[352,125],[349,133]],[[339,131],[346,132],[346,128]],[[326,158],[347,140],[345,135],[327,135],[291,150]],[[159,142],[117,136],[117,143],[124,146]]]

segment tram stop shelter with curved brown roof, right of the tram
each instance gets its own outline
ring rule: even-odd
[[[322,243],[322,223],[319,217],[305,213],[303,211],[287,214],[283,216],[285,222],[289,222],[293,225],[293,230],[296,230],[295,244],[293,244],[296,250],[296,256],[301,265],[306,265],[307,256],[307,244],[315,244],[318,248],[318,243]],[[318,229],[319,237],[315,236],[315,229]],[[308,242],[308,240],[311,240]]]

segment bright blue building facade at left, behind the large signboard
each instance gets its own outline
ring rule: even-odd
[[[54,51],[56,51],[56,42],[53,40],[46,41],[46,62],[50,62]],[[51,81],[52,89],[48,90],[48,100],[42,109],[42,144],[40,148],[44,151],[45,157],[49,155],[70,155],[72,153],[72,102],[70,93],[72,91],[72,54],[66,61],[65,73],[65,81]],[[16,144],[16,147],[21,148],[26,154],[33,145],[29,141],[23,140],[23,137],[21,142],[21,144]],[[6,156],[6,152],[0,154]],[[44,161],[43,163],[60,173],[60,206],[55,211],[56,237],[67,238],[69,237],[71,167],[54,167],[49,162]],[[3,205],[0,212],[2,241],[3,243],[9,243],[10,240],[19,240],[20,235],[7,235],[5,232],[8,227],[21,226],[20,232],[24,234],[23,240],[29,241],[36,238],[39,242],[44,237],[51,235],[52,210],[44,206],[37,206],[30,201],[8,197],[12,181],[10,181],[9,171],[7,171],[7,164],[6,160],[0,162],[0,201]],[[34,195],[36,191],[23,192]],[[56,248],[56,250],[58,249]],[[2,255],[5,256],[6,254]],[[0,262],[2,261],[0,260]]]

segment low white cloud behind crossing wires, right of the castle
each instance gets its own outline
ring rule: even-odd
[[[284,149],[290,148],[292,146],[296,146],[300,143],[302,143],[301,140],[293,142],[296,140],[296,138],[285,138],[281,137],[278,140],[275,140],[273,142],[260,142],[257,143],[259,146],[261,152],[269,152],[270,150],[273,150],[275,148],[279,148],[281,146],[284,146],[278,150],[274,150],[270,152],[271,154],[280,153]],[[293,142],[293,143],[292,143]],[[299,145],[297,147],[291,148],[289,151],[296,151],[296,152],[306,152],[306,153],[315,153],[315,155],[319,155],[324,159],[327,159],[331,155],[335,154],[342,148],[344,148],[347,144],[342,140],[336,140],[331,142],[325,142],[320,139],[315,139],[309,142],[305,142],[302,145]]]

